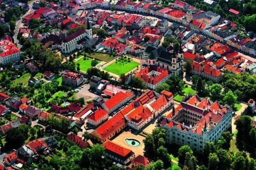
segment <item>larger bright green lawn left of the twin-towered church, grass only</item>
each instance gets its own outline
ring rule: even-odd
[[[105,67],[104,70],[120,76],[122,74],[128,73],[130,70],[134,69],[138,65],[140,65],[140,63],[134,61],[127,63],[114,62],[111,63],[111,65],[108,65],[108,67]]]

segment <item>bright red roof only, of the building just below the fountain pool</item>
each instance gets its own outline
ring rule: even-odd
[[[125,157],[125,156],[129,155],[130,153],[133,153],[132,150],[122,147],[121,145],[117,145],[114,142],[111,142],[109,140],[102,145],[103,145],[103,147],[106,148],[106,150],[116,153],[117,155],[120,155],[122,157]]]

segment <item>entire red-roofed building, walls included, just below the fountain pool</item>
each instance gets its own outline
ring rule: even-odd
[[[106,149],[106,155],[118,163],[128,164],[135,158],[135,154],[132,150],[115,144],[109,140],[102,145]]]

